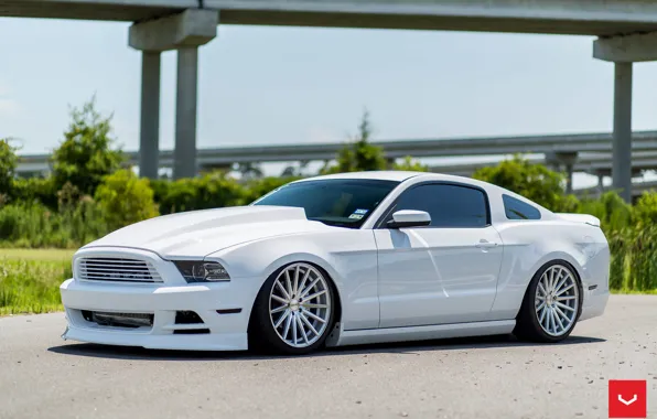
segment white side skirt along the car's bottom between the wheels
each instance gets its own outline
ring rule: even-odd
[[[336,324],[335,329],[326,340],[326,346],[508,334],[513,332],[515,326],[515,320],[438,324],[429,326],[365,329],[355,331],[345,331],[343,330],[342,324]]]

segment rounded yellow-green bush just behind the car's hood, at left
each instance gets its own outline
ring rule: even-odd
[[[149,180],[139,179],[127,169],[103,180],[96,191],[96,201],[111,229],[159,215]]]

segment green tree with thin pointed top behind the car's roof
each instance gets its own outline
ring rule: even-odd
[[[369,143],[371,132],[369,112],[365,110],[358,126],[358,135],[351,139],[351,143],[340,150],[336,159],[337,164],[325,165],[321,172],[328,174],[385,170],[388,164],[384,150]]]

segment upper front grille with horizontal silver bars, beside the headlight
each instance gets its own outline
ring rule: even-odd
[[[78,265],[83,281],[162,282],[148,261],[119,258],[83,258]]]

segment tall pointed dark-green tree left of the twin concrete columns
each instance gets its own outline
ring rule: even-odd
[[[57,190],[71,183],[80,194],[94,195],[103,178],[121,168],[123,154],[112,150],[111,116],[96,110],[96,98],[82,109],[73,108],[64,141],[53,153],[53,176]]]

